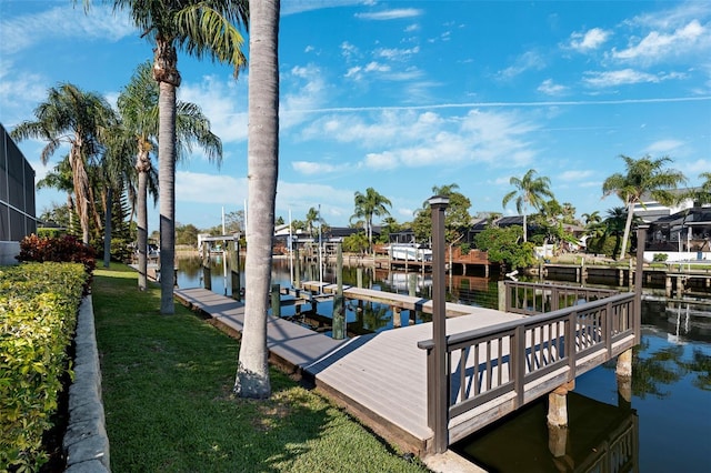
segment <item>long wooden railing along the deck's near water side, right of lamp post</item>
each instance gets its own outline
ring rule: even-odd
[[[633,346],[639,323],[634,293],[624,293],[452,334],[445,373],[437,372],[434,341],[419,342],[428,352],[430,427],[455,442]],[[444,379],[448,405],[435,405],[432,391]],[[438,433],[433,413],[444,407],[448,432]],[[458,416],[467,421],[453,423]]]

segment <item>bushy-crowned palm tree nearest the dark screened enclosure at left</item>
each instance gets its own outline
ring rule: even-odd
[[[37,121],[23,121],[10,133],[18,141],[27,138],[47,141],[40,153],[42,164],[47,164],[58,148],[69,144],[68,160],[84,244],[89,244],[90,240],[90,212],[93,205],[87,168],[100,157],[99,135],[112,113],[102,97],[63,83],[50,88],[47,100],[34,109]]]

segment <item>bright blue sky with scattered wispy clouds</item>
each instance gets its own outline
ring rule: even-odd
[[[0,0],[7,129],[59,82],[114,102],[152,58],[124,14],[93,3],[84,14],[70,0]],[[472,214],[513,214],[509,179],[531,168],[578,215],[604,213],[620,204],[601,199],[620,154],[668,155],[689,185],[711,171],[709,1],[282,0],[279,49],[284,219],[321,205],[347,225],[353,193],[372,187],[405,222],[452,183]],[[177,168],[177,221],[208,228],[248,198],[249,72],[236,81],[184,53],[178,64],[179,99],[202,107],[224,145],[219,169],[199,152]],[[43,177],[42,143],[19,145]],[[64,201],[40,190],[38,214]]]

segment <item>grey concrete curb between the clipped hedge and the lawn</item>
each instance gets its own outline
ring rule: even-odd
[[[64,433],[68,473],[110,472],[109,436],[101,401],[101,368],[91,294],[79,308],[74,382],[69,388],[69,425]]]

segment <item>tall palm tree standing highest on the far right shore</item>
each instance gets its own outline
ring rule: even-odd
[[[672,160],[668,157],[651,159],[649,155],[635,160],[630,157],[620,155],[624,160],[627,172],[614,173],[602,183],[602,197],[605,198],[612,193],[617,194],[627,208],[627,222],[624,224],[624,236],[620,249],[620,258],[622,259],[627,250],[627,240],[630,235],[632,227],[632,218],[634,217],[634,204],[642,202],[642,197],[649,194],[652,199],[663,204],[671,204],[675,197],[670,189],[677,188],[685,181],[684,175],[674,170],[667,170],[664,165]]]

